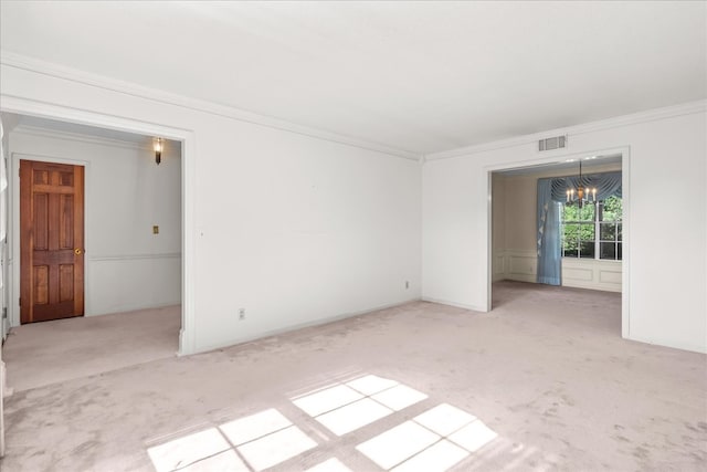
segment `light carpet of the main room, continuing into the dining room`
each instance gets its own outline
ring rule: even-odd
[[[494,300],[20,391],[2,470],[706,469],[706,356],[621,339],[619,294],[503,282]]]

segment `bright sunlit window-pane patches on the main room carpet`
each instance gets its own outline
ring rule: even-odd
[[[426,398],[425,394],[394,380],[367,375],[291,400],[341,437]],[[443,472],[472,455],[482,458],[493,452],[500,445],[497,441],[489,445],[497,436],[475,416],[442,403],[373,438],[369,436],[356,450],[384,471]],[[317,447],[283,413],[271,408],[151,447],[147,452],[157,472],[252,472],[286,465],[283,463]],[[477,452],[482,449],[484,452]],[[351,472],[351,469],[339,459],[329,458],[307,472]]]

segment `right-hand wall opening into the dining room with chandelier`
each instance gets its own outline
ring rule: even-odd
[[[537,166],[515,167],[489,172],[490,224],[489,224],[489,303],[495,308],[494,284],[523,283],[524,290],[546,290],[557,285],[566,293],[571,290],[589,290],[600,293],[621,294],[624,281],[624,254],[627,228],[624,228],[625,209],[622,198],[622,154],[577,155],[557,159],[555,162]],[[579,167],[582,166],[581,181],[600,181],[612,177],[614,187],[606,187],[597,197],[590,186],[583,188],[585,202],[580,207],[577,199]],[[567,181],[564,180],[567,178]],[[616,181],[618,179],[618,181]],[[562,186],[562,199],[558,196],[549,204],[555,212],[545,212],[538,203],[538,182]],[[563,183],[564,182],[564,183]],[[567,190],[564,189],[567,187]],[[618,190],[616,190],[618,187]],[[588,195],[587,195],[588,193]],[[566,196],[566,198],[564,198]],[[541,220],[553,218],[553,224],[545,225]],[[544,230],[548,232],[544,234]],[[555,241],[549,245],[546,239]],[[540,244],[538,241],[541,240]],[[542,247],[545,244],[545,247]],[[539,253],[551,251],[552,270],[557,276],[546,279],[547,260]],[[540,274],[539,274],[540,272]],[[540,276],[539,276],[540,275]],[[540,282],[549,282],[546,285]],[[621,297],[622,295],[619,295]],[[615,296],[614,296],[615,298]],[[616,306],[622,306],[616,300]],[[622,317],[626,314],[623,313]],[[621,321],[622,333],[625,332]],[[619,321],[616,321],[619,323]]]

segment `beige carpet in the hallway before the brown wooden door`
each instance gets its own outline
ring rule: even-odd
[[[14,327],[2,352],[8,386],[22,391],[172,357],[180,327],[180,306]]]

